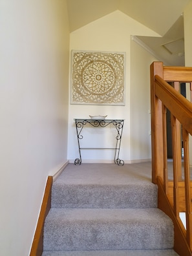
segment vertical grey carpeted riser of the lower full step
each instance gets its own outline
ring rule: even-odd
[[[138,225],[140,225],[139,229]],[[44,250],[158,250],[167,248],[173,248],[173,230],[167,231],[164,224],[156,228],[146,223],[65,222],[61,226],[52,225],[49,232],[45,229],[44,233]]]

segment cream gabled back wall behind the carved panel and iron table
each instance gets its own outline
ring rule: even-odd
[[[131,17],[125,16],[120,11],[113,12],[97,21],[86,25],[70,34],[70,50],[94,50],[94,51],[112,51],[112,52],[125,52],[126,53],[126,63],[125,63],[125,106],[109,106],[109,105],[69,105],[69,143],[68,143],[68,158],[70,162],[73,162],[76,157],[78,157],[78,142],[76,138],[76,130],[74,126],[73,118],[89,118],[89,114],[107,114],[107,118],[117,118],[125,119],[125,125],[123,128],[123,138],[120,151],[120,158],[125,160],[125,162],[131,162],[132,157],[143,159],[151,158],[149,156],[150,150],[147,149],[146,153],[140,153],[136,155],[135,150],[132,152],[131,143],[131,112],[134,116],[134,109],[131,109],[131,76],[138,76],[141,70],[131,70],[131,45],[130,37],[131,35],[140,36],[158,36],[152,30],[145,27],[144,25],[134,21]],[[133,54],[134,55],[134,54]],[[148,59],[147,59],[148,61]],[[148,63],[148,62],[147,62]],[[69,81],[70,87],[70,81]],[[70,97],[70,96],[69,96]],[[147,98],[148,99],[148,98]],[[149,109],[149,102],[144,102],[146,104],[146,109]],[[138,103],[139,104],[139,103]],[[136,109],[137,111],[137,109]],[[136,114],[138,116],[138,114]],[[149,122],[142,124],[147,127],[147,133],[149,130]],[[133,129],[133,127],[132,127]],[[84,130],[85,131],[85,130]],[[87,138],[90,138],[91,145],[95,147],[100,147],[98,143],[98,137],[94,135],[94,132],[98,133],[99,130],[92,129],[87,131],[89,134],[85,134]],[[109,130],[111,133],[111,130]],[[109,131],[106,131],[109,134]],[[100,133],[105,133],[101,132]],[[84,136],[84,138],[85,138]],[[141,135],[145,136],[145,134]],[[140,136],[140,138],[141,138]],[[145,139],[144,139],[145,140]],[[143,144],[143,140],[141,142]],[[102,146],[108,145],[105,139],[102,141]],[[143,145],[138,144],[137,147],[143,148]],[[147,134],[147,147],[148,147],[148,134]],[[83,151],[82,157],[83,161],[100,161],[104,160],[111,161],[113,159],[113,152],[111,151]]]

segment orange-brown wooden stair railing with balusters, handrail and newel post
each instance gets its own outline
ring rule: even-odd
[[[175,250],[179,255],[192,255],[192,208],[191,180],[189,169],[189,135],[192,135],[192,103],[179,92],[180,82],[192,87],[192,68],[164,67],[162,62],[151,64],[151,146],[152,182],[162,186],[164,201],[158,198],[161,208],[167,213],[175,226]],[[172,83],[171,86],[169,83]],[[173,149],[173,201],[169,189],[167,171],[167,125],[166,112],[171,112],[171,134]],[[182,159],[182,146],[184,157]],[[182,173],[182,165],[184,166]],[[184,184],[184,198],[181,198],[180,184]],[[180,220],[180,208],[184,202],[186,229]],[[171,209],[167,209],[170,206]],[[178,234],[180,233],[180,235]],[[182,246],[179,237],[184,238]],[[184,249],[185,247],[185,249]]]

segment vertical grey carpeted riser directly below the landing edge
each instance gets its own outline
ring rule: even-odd
[[[58,199],[59,198],[59,199]],[[156,208],[157,187],[54,186],[52,208]]]

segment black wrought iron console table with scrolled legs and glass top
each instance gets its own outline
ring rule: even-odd
[[[115,164],[118,165],[123,165],[124,161],[120,160],[119,155],[120,155],[120,145],[121,145],[121,140],[122,140],[122,132],[123,132],[123,124],[124,120],[109,120],[109,119],[74,119],[76,122],[76,132],[78,136],[78,146],[79,146],[79,153],[80,153],[80,158],[76,158],[74,160],[74,164],[81,164],[81,149],[114,149],[114,162]],[[83,130],[83,127],[87,124],[92,125],[93,127],[107,127],[108,125],[114,125],[116,128],[117,135],[115,137],[116,139],[116,146],[115,147],[81,147],[80,146],[80,140],[83,139],[83,135],[81,134],[81,131]]]

